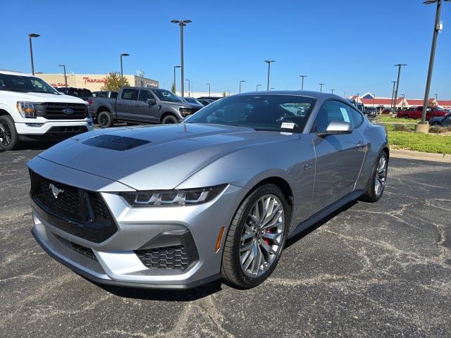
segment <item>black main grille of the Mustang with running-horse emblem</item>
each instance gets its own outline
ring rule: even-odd
[[[95,243],[118,230],[98,192],[54,182],[31,170],[30,178],[34,206],[51,225]]]

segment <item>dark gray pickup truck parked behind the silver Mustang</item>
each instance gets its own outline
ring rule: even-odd
[[[123,87],[116,98],[92,97],[89,111],[100,127],[125,123],[180,123],[203,106],[190,104],[166,89]]]

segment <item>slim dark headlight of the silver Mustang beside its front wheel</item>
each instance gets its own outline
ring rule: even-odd
[[[221,194],[227,184],[216,187],[185,190],[159,190],[150,192],[123,192],[121,196],[130,206],[192,206],[211,201]]]

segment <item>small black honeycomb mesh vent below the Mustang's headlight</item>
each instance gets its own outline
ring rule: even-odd
[[[183,245],[136,250],[135,253],[142,263],[151,269],[183,271],[190,265],[190,258]]]

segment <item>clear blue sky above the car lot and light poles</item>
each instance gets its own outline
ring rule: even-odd
[[[422,0],[323,1],[1,1],[0,68],[30,72],[27,35],[35,70],[61,73],[124,73],[145,76],[170,88],[180,62],[180,29],[185,28],[185,78],[194,91],[237,92],[266,87],[335,89],[335,94],[391,95],[395,63],[402,70],[400,94],[424,96],[435,6]],[[451,99],[451,3],[443,5],[431,96]],[[178,78],[180,75],[178,73]],[[178,87],[180,85],[178,84]]]

